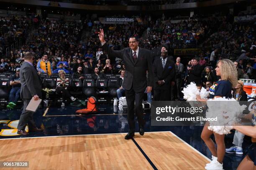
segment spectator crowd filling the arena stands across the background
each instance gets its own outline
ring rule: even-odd
[[[13,23],[9,26],[26,32],[24,25],[14,27],[14,23],[27,25],[28,20],[17,19],[13,17]],[[50,76],[64,72],[72,75],[70,78],[81,80],[84,80],[85,74],[91,74],[94,80],[99,77],[107,78],[106,74],[122,75],[125,71],[122,60],[110,60],[108,54],[101,49],[97,34],[100,28],[104,29],[107,35],[105,40],[113,50],[128,47],[130,36],[135,36],[140,41],[140,47],[154,53],[158,50],[159,55],[156,57],[160,57],[162,46],[170,54],[170,49],[173,48],[202,45],[202,52],[195,58],[192,57],[193,60],[188,63],[181,63],[179,57],[173,59],[176,62],[176,78],[173,80],[176,87],[170,87],[174,89],[171,100],[182,97],[180,89],[189,82],[196,81],[205,87],[214,84],[218,80],[214,68],[218,60],[223,58],[236,61],[234,64],[238,68],[238,79],[255,78],[256,41],[253,25],[230,23],[227,17],[171,23],[164,15],[157,20],[144,18],[142,23],[135,21],[128,25],[106,25],[88,19],[83,22],[39,19],[36,31],[26,45],[11,51],[8,58],[2,57],[0,73],[15,74],[23,62],[24,53],[31,51],[35,54],[33,66],[38,74],[46,73]],[[86,43],[81,43],[84,30],[92,32],[92,35],[87,37]],[[16,32],[17,30],[12,29],[2,35],[15,36]],[[3,44],[5,42],[2,41]],[[193,76],[189,75],[193,72],[191,69],[197,70]]]

